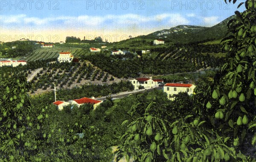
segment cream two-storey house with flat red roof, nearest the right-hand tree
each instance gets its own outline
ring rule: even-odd
[[[179,92],[187,92],[189,95],[194,93],[195,85],[182,83],[166,83],[163,86],[163,91],[167,93],[168,99],[174,100],[175,94]]]

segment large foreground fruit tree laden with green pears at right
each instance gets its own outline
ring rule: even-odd
[[[229,34],[222,40],[228,54],[221,71],[214,80],[201,80],[190,105],[177,98],[180,108],[192,111],[174,117],[164,104],[134,105],[131,118],[123,122],[128,129],[119,157],[143,162],[256,161],[256,1],[246,0],[245,7],[228,23]]]

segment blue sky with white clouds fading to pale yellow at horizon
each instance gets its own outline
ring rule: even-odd
[[[240,2],[244,1],[0,0],[0,40],[20,36],[35,40],[41,35],[46,42],[59,42],[67,36],[90,39],[109,35],[113,42],[122,36],[135,37],[178,25],[210,27],[233,15]],[[244,6],[240,8],[244,11]]]

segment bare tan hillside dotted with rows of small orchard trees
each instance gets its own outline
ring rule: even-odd
[[[27,73],[33,74],[36,71],[38,69]],[[59,89],[90,84],[111,84],[119,81],[120,79],[93,66],[90,62],[84,61],[80,63],[51,63],[47,67],[39,69],[39,72],[30,81],[30,85],[31,93],[41,93],[52,90],[54,84]]]

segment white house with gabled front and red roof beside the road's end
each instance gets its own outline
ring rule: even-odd
[[[144,88],[159,86],[163,83],[163,80],[152,79],[152,78],[137,78],[130,80],[131,84],[134,86],[134,89],[139,89],[140,86]]]

